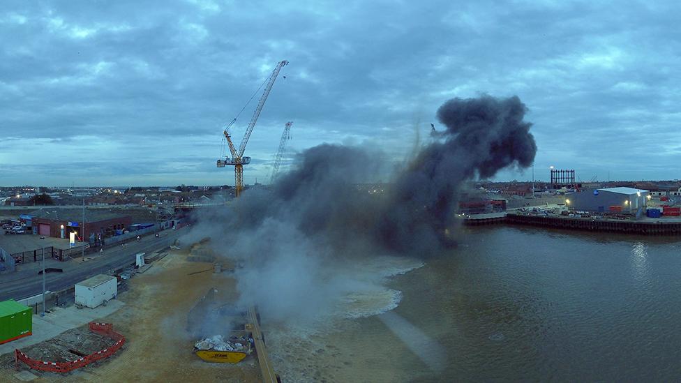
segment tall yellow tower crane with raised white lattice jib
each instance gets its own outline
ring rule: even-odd
[[[248,138],[250,138],[250,133],[253,133],[253,128],[255,128],[255,122],[257,121],[257,117],[260,116],[260,112],[262,111],[263,105],[265,105],[265,100],[267,100],[267,96],[269,96],[269,91],[272,90],[274,80],[276,80],[276,77],[279,74],[281,68],[283,68],[283,66],[285,66],[287,63],[288,61],[286,60],[279,61],[277,66],[272,71],[271,75],[269,75],[269,77],[267,77],[267,80],[265,80],[265,82],[267,82],[267,85],[265,86],[264,91],[262,91],[260,101],[257,103],[257,107],[255,107],[255,112],[253,112],[253,117],[251,117],[250,123],[248,123],[246,133],[244,133],[244,138],[241,139],[241,144],[239,144],[238,150],[234,148],[234,143],[232,142],[232,135],[230,135],[228,130],[232,125],[234,125],[234,122],[237,121],[237,117],[239,117],[239,114],[241,114],[241,112],[244,111],[246,106],[244,106],[244,108],[241,109],[241,112],[237,114],[237,117],[234,117],[232,122],[230,122],[227,128],[225,128],[225,130],[223,131],[223,134],[225,135],[225,138],[223,140],[226,140],[227,145],[229,145],[230,147],[231,157],[223,155],[225,159],[218,160],[218,167],[225,167],[225,165],[234,165],[234,189],[235,195],[237,197],[239,197],[239,195],[241,194],[241,190],[244,190],[244,165],[248,165],[250,163],[250,157],[244,157],[244,150],[246,150]],[[262,87],[262,85],[260,87]],[[255,94],[253,96],[255,96]],[[253,99],[253,97],[251,97],[251,99]],[[248,102],[250,103],[250,100]],[[248,105],[248,103],[246,105]]]

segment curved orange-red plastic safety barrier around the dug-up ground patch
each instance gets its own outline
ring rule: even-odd
[[[83,356],[80,359],[76,359],[75,361],[68,362],[38,361],[36,359],[31,359],[30,356],[16,349],[14,350],[16,365],[15,368],[19,370],[19,362],[22,361],[26,363],[29,368],[33,368],[33,370],[50,371],[51,373],[68,373],[77,368],[87,366],[93,361],[98,361],[100,359],[112,356],[115,352],[120,350],[121,347],[123,347],[124,343],[126,343],[126,338],[114,331],[113,324],[90,322],[88,326],[90,331],[93,333],[98,333],[101,336],[112,338],[113,340],[116,340],[116,343],[114,343],[114,345],[111,347],[105,348],[104,350],[100,350],[93,354],[89,354],[88,356]]]

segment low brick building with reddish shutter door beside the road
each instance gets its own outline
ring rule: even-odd
[[[33,232],[36,234],[68,238],[70,232],[75,232],[79,238],[84,234],[85,239],[91,243],[121,234],[133,224],[130,216],[99,210],[86,211],[84,225],[81,209],[40,209],[30,215],[33,218]]]

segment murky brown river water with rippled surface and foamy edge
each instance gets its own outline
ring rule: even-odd
[[[681,378],[681,242],[463,228],[461,246],[392,276],[401,300],[292,344],[290,381]],[[287,338],[287,340],[283,340]],[[279,350],[282,350],[279,348]]]

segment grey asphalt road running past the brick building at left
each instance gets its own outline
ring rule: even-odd
[[[91,276],[133,264],[135,263],[136,253],[153,253],[156,250],[168,248],[187,231],[187,227],[179,230],[164,230],[160,232],[158,238],[150,235],[140,241],[128,242],[125,247],[117,246],[107,249],[103,255],[93,257],[88,262],[75,259],[52,264],[50,266],[63,269],[63,273],[47,273],[45,288],[49,291],[63,290]],[[43,291],[43,279],[42,276],[38,275],[37,264],[30,266],[32,267],[22,265],[20,267],[25,267],[25,270],[0,276],[0,301],[24,299]],[[23,276],[23,278],[20,276]]]

